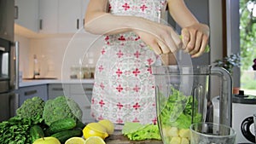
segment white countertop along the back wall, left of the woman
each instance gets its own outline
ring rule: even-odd
[[[35,86],[40,84],[93,84],[94,79],[31,79],[22,80],[19,87]]]

